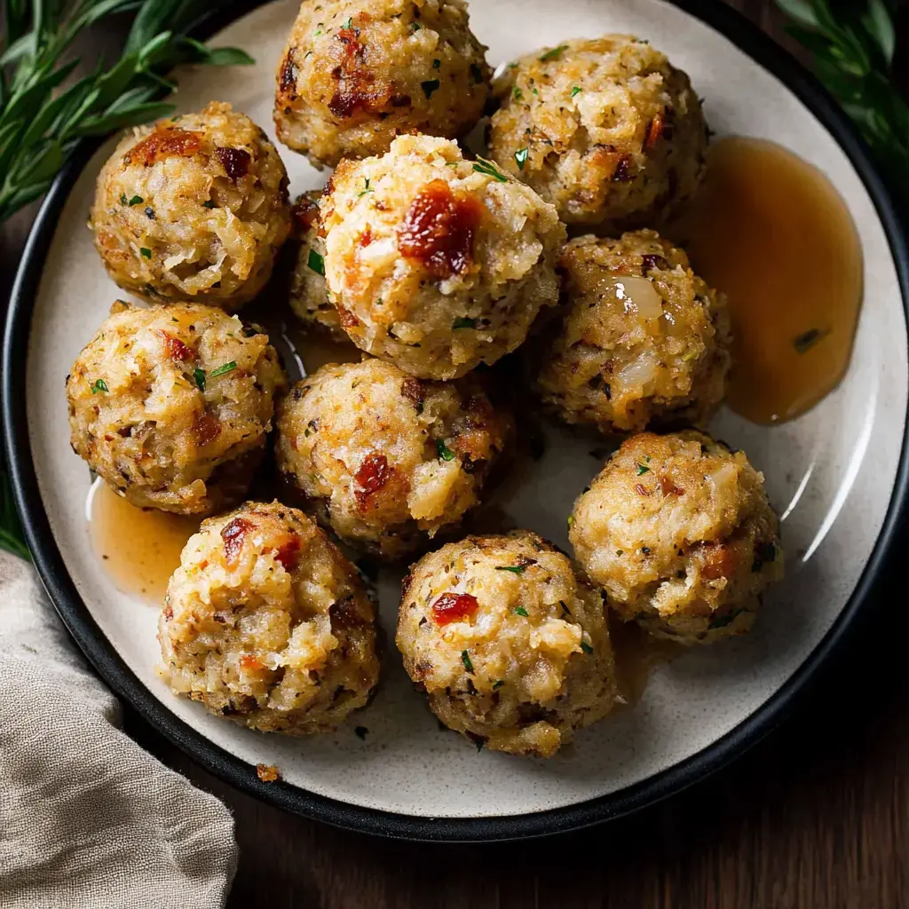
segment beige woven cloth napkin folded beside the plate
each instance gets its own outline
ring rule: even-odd
[[[214,796],[117,728],[31,565],[0,553],[0,906],[217,909],[236,866]]]

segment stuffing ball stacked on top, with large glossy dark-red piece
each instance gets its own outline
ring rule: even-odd
[[[355,345],[453,379],[522,344],[558,296],[552,205],[454,142],[407,135],[344,162],[322,200],[325,277]]]

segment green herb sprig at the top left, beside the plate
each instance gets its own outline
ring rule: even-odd
[[[0,221],[45,190],[85,136],[106,135],[173,112],[161,98],[177,64],[253,63],[235,47],[186,35],[207,0],[2,0]],[[120,59],[61,89],[79,61],[66,52],[90,25],[135,11]]]

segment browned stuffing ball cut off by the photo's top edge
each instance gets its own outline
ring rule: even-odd
[[[278,138],[317,167],[403,133],[455,138],[483,115],[484,50],[464,0],[305,0],[278,65]]]

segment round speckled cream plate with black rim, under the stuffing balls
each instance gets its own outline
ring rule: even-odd
[[[216,43],[245,47],[255,67],[187,72],[180,109],[229,101],[273,134],[273,71],[296,6],[278,0],[225,25]],[[105,680],[201,764],[271,803],[359,830],[439,840],[602,821],[691,784],[753,744],[854,621],[907,498],[906,249],[864,146],[824,91],[720,4],[474,0],[471,10],[493,65],[562,37],[650,39],[691,75],[714,130],[788,147],[831,179],[853,215],[865,295],[843,383],[792,423],[767,429],[722,412],[711,427],[764,470],[784,517],[788,574],[752,634],[659,666],[634,708],[545,762],[478,754],[440,731],[393,647],[375,701],[335,734],[301,740],[225,723],[175,698],[155,674],[157,610],[116,590],[95,558],[85,525],[90,478],[68,442],[67,369],[122,295],[85,229],[95,175],[115,140],[82,149],[45,200],[16,279],[4,358],[7,454],[29,544],[57,609]],[[282,155],[293,194],[324,182],[300,156]],[[544,459],[500,504],[516,524],[565,545],[565,515],[602,461],[564,431],[549,433]],[[395,579],[380,587],[390,637]],[[355,724],[369,729],[365,741]],[[276,764],[284,782],[261,783],[258,763]]]

